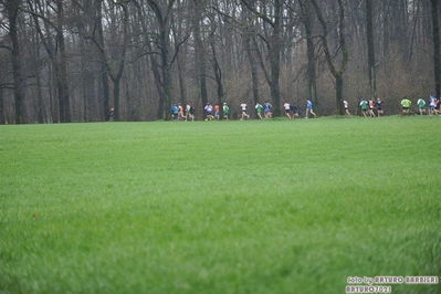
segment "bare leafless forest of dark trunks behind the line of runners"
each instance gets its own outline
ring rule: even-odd
[[[440,97],[438,0],[0,0],[0,124]],[[252,112],[252,115],[254,113]]]

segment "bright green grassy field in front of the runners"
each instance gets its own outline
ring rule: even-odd
[[[427,116],[0,126],[0,293],[440,277],[440,129]]]

